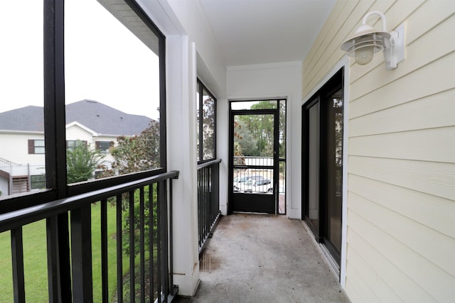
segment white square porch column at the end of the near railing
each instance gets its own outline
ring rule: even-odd
[[[173,282],[191,296],[199,281],[196,167],[196,50],[187,35],[166,37],[168,170],[173,181]]]

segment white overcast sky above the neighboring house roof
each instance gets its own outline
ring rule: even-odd
[[[0,112],[43,106],[43,1],[6,1]],[[18,14],[16,12],[20,11]],[[65,100],[158,118],[158,57],[96,0],[65,1]]]

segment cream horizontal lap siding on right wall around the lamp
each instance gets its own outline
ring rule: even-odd
[[[350,60],[346,293],[455,302],[455,1],[338,1],[304,61],[302,95],[376,10],[387,31],[405,22],[406,59],[392,71],[382,53]]]

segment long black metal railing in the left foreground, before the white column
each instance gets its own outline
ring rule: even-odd
[[[41,276],[48,278],[48,297],[37,300],[171,302],[178,291],[171,258],[172,179],[177,177],[178,172],[166,172],[1,214],[0,236],[11,233],[11,299],[26,302],[33,290],[34,281],[24,279],[24,270],[34,269],[24,266],[23,238],[30,236],[26,233],[39,237],[28,224],[45,219],[40,226],[48,270]],[[2,274],[8,270],[0,268]]]

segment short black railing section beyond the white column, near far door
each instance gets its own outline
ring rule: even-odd
[[[220,159],[198,165],[199,252],[220,216]]]

